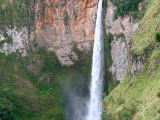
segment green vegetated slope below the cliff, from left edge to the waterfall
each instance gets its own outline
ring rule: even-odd
[[[63,120],[62,91],[72,91],[77,74],[88,81],[91,72],[91,51],[73,49],[78,60],[70,67],[62,66],[56,54],[42,46],[35,52],[30,49],[26,57],[18,51],[0,53],[1,119]]]

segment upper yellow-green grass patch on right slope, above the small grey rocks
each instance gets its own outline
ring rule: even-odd
[[[157,43],[155,42],[155,34],[160,31],[159,27],[160,14],[158,14],[160,6],[155,5],[155,0],[152,1],[153,3],[151,1],[148,1],[148,6],[147,6],[148,9],[145,13],[145,16],[141,20],[139,29],[135,31],[135,35],[131,38],[130,41],[131,43],[133,43],[132,49],[134,50],[135,54],[141,55],[147,50],[149,50],[150,56],[152,56],[153,58],[156,57],[159,53],[158,52],[159,48],[157,46]],[[155,16],[155,14],[157,15]]]

